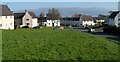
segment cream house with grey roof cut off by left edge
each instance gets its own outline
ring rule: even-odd
[[[14,29],[14,14],[7,5],[0,5],[0,29]]]

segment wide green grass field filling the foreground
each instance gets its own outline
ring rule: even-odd
[[[3,30],[3,60],[117,60],[118,44],[77,30]]]

